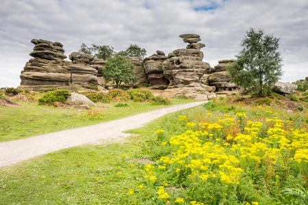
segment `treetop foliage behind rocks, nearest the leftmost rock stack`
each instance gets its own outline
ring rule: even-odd
[[[81,44],[81,48],[79,50],[80,53],[86,53],[90,55],[94,55],[96,59],[107,60],[110,57],[114,56],[114,48],[108,45],[97,45],[92,44],[92,46],[88,47],[86,44]]]

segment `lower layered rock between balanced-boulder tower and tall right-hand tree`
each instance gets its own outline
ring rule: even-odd
[[[217,92],[238,90],[235,83],[231,83],[231,74],[227,71],[227,66],[234,62],[233,59],[224,59],[218,61],[218,65],[214,66],[211,74],[203,76],[203,83],[207,81],[207,85],[215,86]]]

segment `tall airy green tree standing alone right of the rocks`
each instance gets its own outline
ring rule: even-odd
[[[259,96],[265,96],[282,75],[282,59],[279,38],[264,34],[259,29],[249,29],[241,43],[242,51],[228,70],[240,87],[253,88]]]

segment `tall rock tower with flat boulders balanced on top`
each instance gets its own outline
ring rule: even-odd
[[[163,63],[162,70],[168,79],[169,86],[166,92],[172,96],[183,95],[199,100],[207,100],[214,96],[210,92],[214,87],[203,85],[201,77],[211,70],[208,63],[203,62],[203,52],[200,51],[205,44],[200,43],[197,34],[182,34],[183,42],[188,42],[186,49],[177,49],[168,54]]]

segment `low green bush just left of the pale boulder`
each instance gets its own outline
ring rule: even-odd
[[[38,99],[38,105],[53,105],[53,102],[65,102],[69,96],[70,92],[68,90],[51,91]]]

